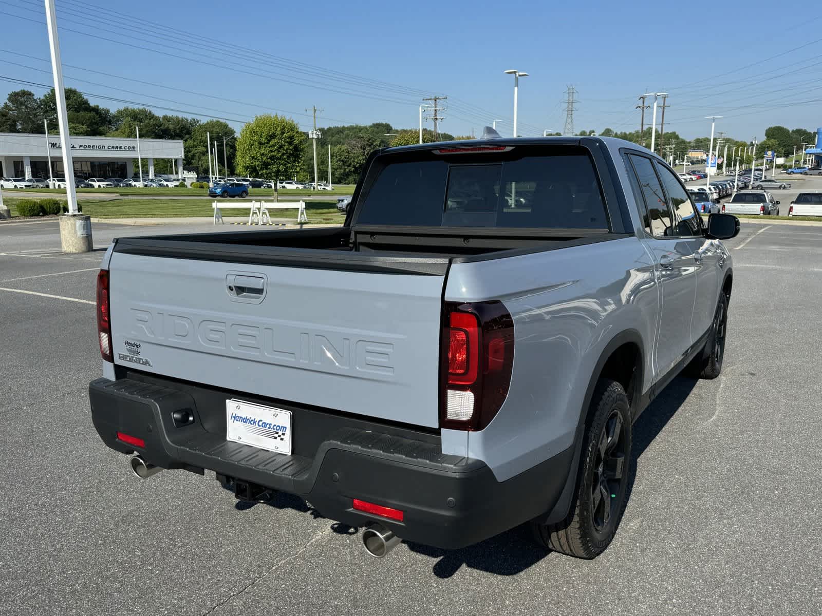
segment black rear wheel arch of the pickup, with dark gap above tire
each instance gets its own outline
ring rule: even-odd
[[[603,352],[600,353],[591,373],[588,388],[585,389],[585,396],[580,409],[580,419],[577,422],[574,435],[574,455],[571,459],[566,483],[562,488],[560,498],[556,501],[552,510],[547,512],[543,520],[544,523],[555,524],[564,520],[576,498],[582,441],[589,421],[591,398],[593,398],[593,391],[599,379],[602,379],[603,376],[609,377],[622,384],[628,395],[631,416],[635,418],[639,415],[640,406],[644,399],[642,388],[645,352],[640,332],[636,329],[625,329],[611,338],[605,345]]]

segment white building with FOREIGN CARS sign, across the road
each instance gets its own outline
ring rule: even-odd
[[[140,151],[145,177],[154,177],[155,159],[172,159],[182,172],[182,140],[123,139],[122,137],[72,136],[73,177],[133,177]],[[51,170],[49,171],[49,159]],[[62,142],[58,135],[0,133],[2,177],[66,177],[62,167]]]

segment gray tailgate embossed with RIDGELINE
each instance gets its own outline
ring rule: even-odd
[[[445,269],[375,273],[133,255],[110,268],[118,365],[436,427]]]

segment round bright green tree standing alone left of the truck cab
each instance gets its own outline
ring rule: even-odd
[[[305,134],[292,119],[268,113],[257,116],[240,131],[237,168],[247,176],[269,180],[292,177],[299,172],[304,141]]]

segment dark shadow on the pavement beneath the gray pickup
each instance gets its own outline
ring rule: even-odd
[[[634,425],[627,486],[629,501],[636,479],[637,460],[676,414],[696,384],[695,379],[686,377],[680,376],[673,379],[671,384],[645,409]],[[235,507],[239,511],[244,511],[256,504],[258,503],[238,501]],[[315,518],[322,517],[315,509],[308,507],[303,499],[293,494],[274,492],[264,504],[277,509],[288,508],[310,513]],[[341,522],[333,522],[331,531],[339,535],[355,535],[358,529]],[[551,554],[551,550],[541,548],[536,544],[528,524],[517,526],[510,531],[463,549],[449,550],[408,541],[404,543],[411,551],[436,559],[432,572],[436,577],[443,579],[453,576],[463,566],[501,576],[516,575]]]

